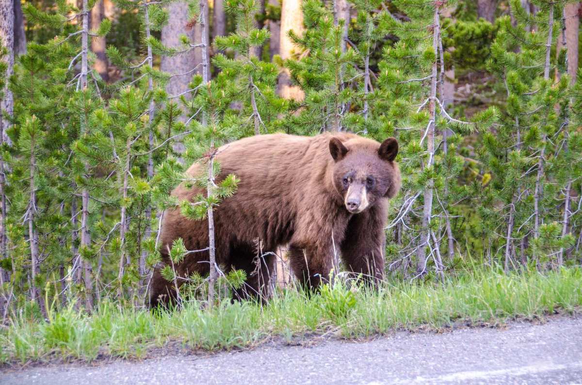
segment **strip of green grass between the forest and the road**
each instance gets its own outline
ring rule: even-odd
[[[449,277],[444,284],[406,281],[372,291],[338,284],[311,297],[280,291],[266,306],[224,301],[201,309],[194,303],[159,315],[105,301],[92,315],[71,306],[52,312],[49,322],[15,316],[0,330],[0,362],[140,358],[169,344],[217,351],[324,333],[360,338],[395,329],[439,329],[456,320],[533,319],[572,313],[580,306],[580,268],[509,275],[481,269]]]

